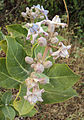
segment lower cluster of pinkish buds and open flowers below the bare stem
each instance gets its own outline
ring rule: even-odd
[[[42,61],[42,54],[38,53],[35,60],[29,56],[25,57],[25,62],[31,65],[31,68],[34,69],[34,72],[31,73],[30,77],[26,79],[27,93],[24,98],[28,100],[31,104],[36,103],[37,101],[42,102],[41,97],[44,89],[39,89],[40,84],[49,83],[49,79],[46,76],[39,77],[43,73],[44,68],[50,68],[52,66],[51,61]]]

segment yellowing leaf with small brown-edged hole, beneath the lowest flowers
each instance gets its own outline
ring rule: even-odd
[[[26,95],[26,89],[27,88],[25,85],[20,87],[17,95],[17,98],[19,97],[20,100],[18,101],[16,98],[13,103],[14,108],[19,112],[20,116],[28,114],[34,107],[34,105],[31,105],[27,100],[24,99],[24,96]]]

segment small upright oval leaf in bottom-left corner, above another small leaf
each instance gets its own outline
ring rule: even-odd
[[[11,92],[5,92],[1,98],[2,103],[4,105],[8,105],[12,99],[12,93]]]

